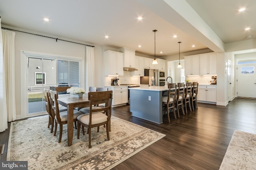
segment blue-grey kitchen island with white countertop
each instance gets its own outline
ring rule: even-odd
[[[163,123],[162,96],[167,86],[141,86],[130,89],[130,112],[154,123]]]

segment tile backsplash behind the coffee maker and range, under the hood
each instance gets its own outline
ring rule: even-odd
[[[105,76],[105,86],[111,86],[112,76]],[[140,84],[140,77],[133,76],[132,71],[124,71],[124,76],[117,77],[118,84]]]

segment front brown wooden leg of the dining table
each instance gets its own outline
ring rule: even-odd
[[[68,105],[68,146],[72,145],[74,133],[74,106]]]

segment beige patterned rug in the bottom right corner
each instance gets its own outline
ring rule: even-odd
[[[256,134],[234,131],[220,170],[255,170]]]

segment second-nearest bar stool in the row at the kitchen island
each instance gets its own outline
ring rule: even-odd
[[[175,102],[175,106],[178,112],[178,117],[180,117],[180,112],[179,112],[179,107],[181,107],[182,109],[182,113],[183,115],[185,115],[184,113],[184,105],[183,105],[183,99],[185,96],[185,84],[184,83],[177,83],[177,99]]]

